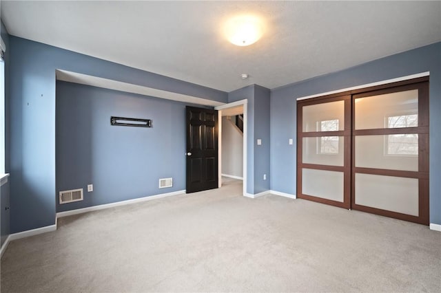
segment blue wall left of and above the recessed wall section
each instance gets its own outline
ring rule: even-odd
[[[11,232],[55,222],[55,70],[227,102],[228,94],[10,36]]]

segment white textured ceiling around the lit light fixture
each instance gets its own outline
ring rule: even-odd
[[[245,13],[267,31],[236,47],[222,25]],[[14,36],[223,91],[272,89],[441,41],[441,1],[1,1],[1,18]]]

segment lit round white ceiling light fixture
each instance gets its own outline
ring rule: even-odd
[[[225,23],[225,35],[228,41],[238,46],[256,43],[263,35],[263,31],[263,21],[252,15],[234,17]]]

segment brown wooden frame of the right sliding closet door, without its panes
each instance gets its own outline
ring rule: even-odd
[[[419,78],[418,80],[421,80]],[[412,221],[419,224],[429,225],[429,82],[427,80],[414,81],[409,80],[407,85],[396,87],[387,87],[383,89],[373,89],[361,94],[352,95],[352,105],[355,105],[357,98],[369,96],[378,96],[382,94],[392,94],[399,91],[418,89],[418,127],[393,128],[393,129],[360,129],[355,128],[355,106],[352,107],[352,172],[351,172],[351,207],[354,210],[361,210],[367,213],[382,215]],[[392,169],[374,169],[356,167],[355,162],[355,138],[357,135],[389,135],[417,133],[418,134],[418,171],[398,171]],[[355,175],[356,173],[371,175],[386,175],[394,177],[408,177],[418,180],[418,217],[402,213],[382,210],[356,204],[355,194]]]

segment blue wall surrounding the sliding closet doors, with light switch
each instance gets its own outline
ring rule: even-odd
[[[271,189],[296,194],[296,98],[430,72],[430,222],[441,224],[441,43],[271,90]]]

